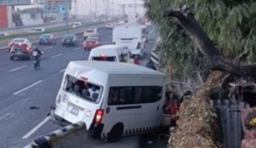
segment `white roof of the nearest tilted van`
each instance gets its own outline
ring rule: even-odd
[[[138,66],[135,64],[124,63],[124,62],[95,62],[95,61],[72,61],[69,62],[68,67],[79,68],[81,73],[88,71],[103,72],[108,75],[116,74],[151,74],[161,75],[163,73],[154,71],[147,67]],[[76,69],[77,69],[76,68]]]

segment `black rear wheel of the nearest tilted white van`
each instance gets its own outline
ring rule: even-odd
[[[113,128],[111,131],[108,133],[107,141],[108,142],[115,142],[119,141],[122,138],[123,135],[123,124],[118,123]]]

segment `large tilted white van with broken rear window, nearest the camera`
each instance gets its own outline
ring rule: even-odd
[[[163,73],[147,67],[69,62],[53,116],[62,123],[83,121],[88,136],[108,141],[155,131],[162,121],[164,84]]]

